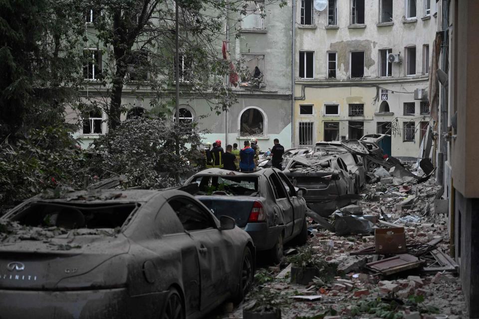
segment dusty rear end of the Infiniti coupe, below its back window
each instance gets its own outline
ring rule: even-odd
[[[1,235],[0,289],[94,289],[126,283],[130,243],[113,229],[28,227]]]

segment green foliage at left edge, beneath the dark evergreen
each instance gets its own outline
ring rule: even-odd
[[[77,167],[84,162],[71,132],[61,125],[32,129],[12,143],[5,139],[0,144],[0,207],[81,180]]]

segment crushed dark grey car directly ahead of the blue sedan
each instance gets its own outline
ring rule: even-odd
[[[307,206],[321,216],[329,216],[360,197],[355,194],[355,173],[338,154],[296,156],[283,172],[294,186],[307,190]]]

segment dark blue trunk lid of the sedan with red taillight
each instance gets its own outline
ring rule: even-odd
[[[229,216],[235,219],[238,227],[245,227],[255,201],[261,197],[252,196],[196,196],[216,217]]]

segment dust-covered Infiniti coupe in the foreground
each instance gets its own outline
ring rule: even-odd
[[[251,285],[249,235],[184,191],[60,197],[0,219],[2,318],[199,318]]]

